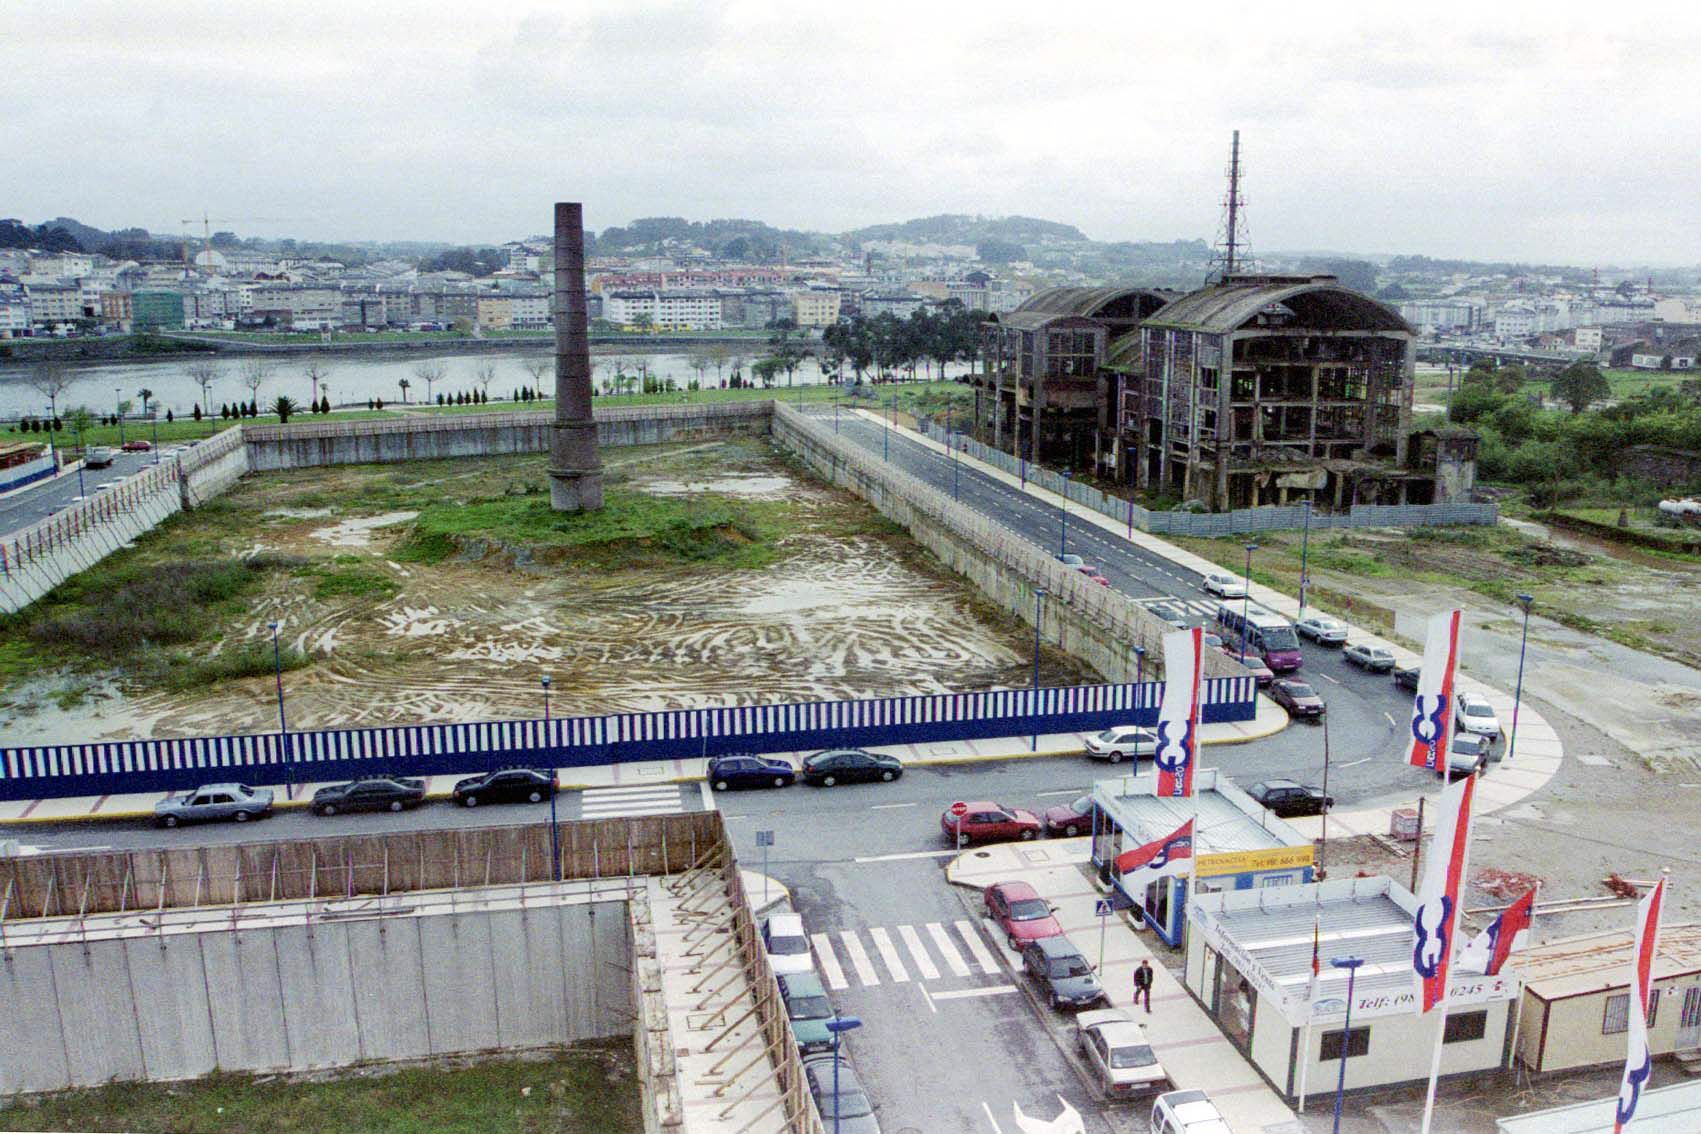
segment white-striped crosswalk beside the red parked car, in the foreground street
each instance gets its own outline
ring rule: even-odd
[[[869,950],[864,944],[873,944]],[[868,930],[811,933],[815,966],[828,988],[857,984],[874,988],[885,983],[908,984],[913,979],[966,979],[998,972],[998,959],[978,925],[966,918],[924,921],[922,925],[883,925]],[[913,976],[912,976],[913,972]]]

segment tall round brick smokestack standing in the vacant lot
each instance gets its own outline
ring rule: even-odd
[[[549,434],[549,507],[602,507],[602,461],[590,417],[590,321],[585,316],[585,218],[577,201],[555,206],[555,427]]]

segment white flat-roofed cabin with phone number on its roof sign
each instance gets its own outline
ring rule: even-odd
[[[1298,1098],[1335,1086],[1340,1052],[1347,1088],[1429,1078],[1437,1012],[1417,1013],[1412,918],[1417,899],[1388,877],[1199,894],[1187,906],[1187,991],[1269,1080]],[[1310,1000],[1311,942],[1322,976]],[[1352,1027],[1344,1030],[1347,972],[1359,957]],[[1517,978],[1459,972],[1448,983],[1442,1074],[1505,1063]]]

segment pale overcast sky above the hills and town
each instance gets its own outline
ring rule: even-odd
[[[1701,15],[1650,3],[0,5],[0,216],[500,241],[582,199],[1021,213],[1254,252],[1701,264]]]

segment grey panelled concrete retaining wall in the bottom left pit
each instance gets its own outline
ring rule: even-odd
[[[624,901],[9,949],[0,1091],[303,1071],[631,1030]]]

